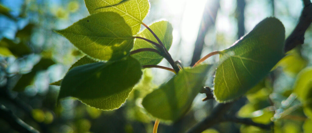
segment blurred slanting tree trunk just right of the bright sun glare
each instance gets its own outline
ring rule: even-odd
[[[214,4],[211,4],[211,3],[214,3]],[[202,48],[205,43],[204,42],[205,36],[208,32],[208,29],[214,26],[215,24],[219,7],[220,7],[219,0],[214,0],[213,2],[207,1],[205,5],[205,9],[202,14],[202,21],[200,23],[198,34],[197,34],[197,39],[195,42],[192,62],[190,66],[193,66],[200,59],[200,55],[202,55]]]

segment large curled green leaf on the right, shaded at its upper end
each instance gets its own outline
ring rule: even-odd
[[[228,102],[244,95],[264,78],[284,57],[285,28],[276,18],[266,18],[234,43],[220,52],[224,60],[217,68],[214,96]]]

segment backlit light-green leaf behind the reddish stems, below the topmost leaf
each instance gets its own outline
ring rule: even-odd
[[[163,42],[163,45],[166,47],[166,49],[169,50],[173,39],[172,37],[173,28],[171,24],[168,21],[159,21],[150,25],[149,28],[154,31],[154,33],[158,36],[160,41]],[[149,32],[148,29],[144,29],[137,36],[157,42],[156,38],[153,36],[151,32]],[[153,44],[149,42],[146,42],[142,39],[136,39],[134,42],[133,50],[140,48],[157,49],[157,47],[155,47]],[[163,59],[162,56],[154,52],[139,52],[131,56],[139,60],[139,62],[142,65],[150,65],[150,64],[156,65]]]

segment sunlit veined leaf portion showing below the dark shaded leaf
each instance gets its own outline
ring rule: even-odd
[[[125,91],[107,97],[94,99],[79,99],[79,100],[81,100],[82,103],[97,109],[113,110],[118,109],[126,101],[131,91],[132,87]]]

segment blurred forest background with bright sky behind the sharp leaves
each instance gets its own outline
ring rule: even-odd
[[[203,19],[212,18],[213,23],[201,34],[202,56],[231,46],[268,16],[283,22],[287,37],[303,8],[300,0],[150,0],[150,4],[144,23],[163,19],[172,23],[169,52],[184,65],[191,63]],[[173,76],[161,69],[144,69],[143,78],[120,109],[101,111],[72,98],[56,106],[59,87],[49,83],[61,79],[84,54],[53,30],[64,29],[88,15],[83,0],[0,0],[0,103],[41,132],[151,132],[155,118],[144,111],[141,101]],[[310,26],[305,44],[289,51],[265,79],[234,104],[230,113],[257,123],[274,122],[275,133],[312,132],[311,55]],[[207,62],[217,60],[213,57]],[[170,66],[165,60],[160,65]],[[210,81],[207,84],[212,86]],[[216,101],[202,102],[204,97],[199,94],[185,117],[176,123],[161,123],[158,132],[184,132],[209,115]],[[16,131],[0,119],[0,132]],[[226,132],[271,131],[223,122],[203,133]]]

